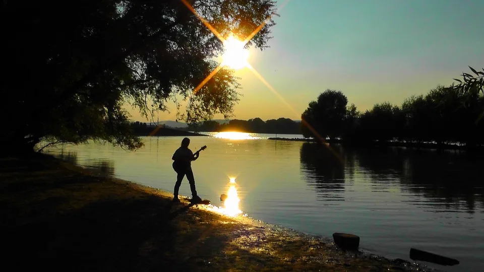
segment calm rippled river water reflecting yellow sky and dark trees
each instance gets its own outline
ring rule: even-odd
[[[214,133],[208,133],[214,135]],[[463,151],[405,148],[331,149],[272,141],[273,134],[226,134],[237,139],[192,137],[200,147],[193,162],[202,198],[219,203],[235,177],[240,209],[262,221],[308,234],[360,236],[360,247],[389,258],[408,257],[410,247],[457,258],[448,271],[484,267],[484,160]],[[300,135],[278,135],[301,138]],[[247,139],[251,138],[251,139]],[[126,152],[89,144],[49,149],[106,174],[173,190],[171,156],[183,137],[143,138]],[[180,194],[190,195],[185,179]]]

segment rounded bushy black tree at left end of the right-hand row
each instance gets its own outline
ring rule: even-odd
[[[334,139],[341,137],[346,119],[348,98],[341,91],[326,90],[318,96],[317,101],[311,101],[302,113],[302,135],[305,138],[315,137],[314,129],[321,137]],[[311,128],[309,127],[311,126]]]

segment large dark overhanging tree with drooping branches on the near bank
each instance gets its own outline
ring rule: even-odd
[[[223,37],[244,39],[275,12],[271,0],[189,2]],[[0,83],[8,101],[0,111],[19,120],[0,132],[3,151],[32,150],[48,135],[134,150],[141,142],[125,102],[148,117],[181,97],[189,100],[181,117],[196,122],[231,116],[238,101],[237,78],[228,69],[192,94],[223,48],[179,0],[4,1],[1,20],[9,80]],[[247,46],[266,48],[273,25],[268,20]]]

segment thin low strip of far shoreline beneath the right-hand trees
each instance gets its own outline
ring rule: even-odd
[[[319,143],[316,139],[300,139],[300,138],[279,138],[279,137],[271,137],[267,138],[268,140],[274,141],[293,141],[293,142],[306,142],[306,143]],[[437,145],[433,143],[402,143],[402,142],[374,142],[371,145],[368,144],[354,144],[354,143],[345,143],[341,140],[326,140],[327,144],[342,144],[354,147],[406,147],[406,148],[425,148],[425,149],[442,149],[442,150],[472,150],[472,151],[482,151],[484,147],[477,146],[473,148],[469,148],[466,146],[458,146],[458,145],[449,145],[449,144],[442,144]]]

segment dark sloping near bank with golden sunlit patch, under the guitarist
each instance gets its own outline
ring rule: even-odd
[[[1,159],[0,178],[4,259],[18,270],[416,270],[186,199],[172,206],[169,192],[47,155]]]

